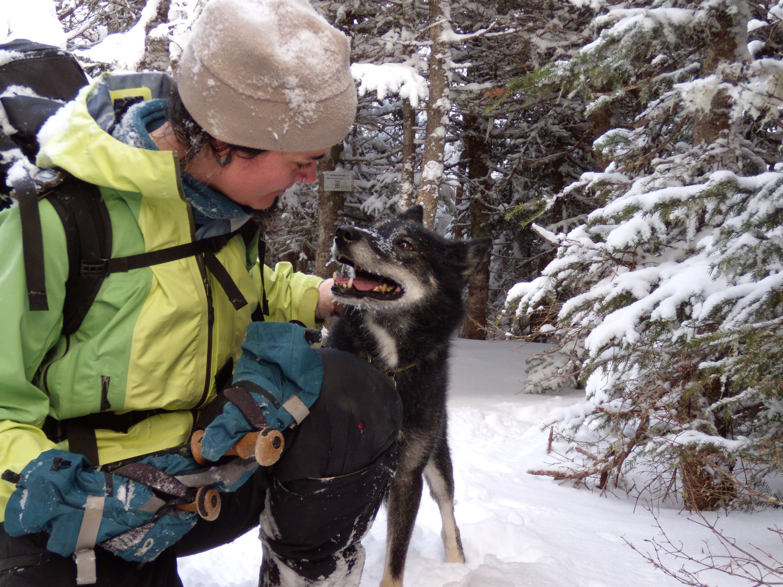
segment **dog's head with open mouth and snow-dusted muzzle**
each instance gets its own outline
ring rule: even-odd
[[[334,273],[341,304],[389,311],[411,308],[437,294],[461,297],[489,239],[454,241],[424,227],[414,206],[370,229],[341,226],[332,254],[350,272]]]

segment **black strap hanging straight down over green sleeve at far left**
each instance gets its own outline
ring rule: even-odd
[[[41,214],[38,212],[38,190],[25,173],[13,182],[13,197],[19,202],[22,224],[22,254],[27,278],[27,300],[31,312],[49,310],[46,301],[44,272],[44,239],[41,234]]]

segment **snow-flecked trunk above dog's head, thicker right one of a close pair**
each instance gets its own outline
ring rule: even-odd
[[[430,0],[429,22],[443,19],[441,2]],[[449,82],[446,72],[446,44],[442,41],[443,27],[430,27],[430,99],[427,104],[427,134],[424,136],[424,156],[421,161],[421,181],[418,201],[424,205],[424,225],[433,228],[438,209],[438,189],[443,178],[443,146],[446,124],[449,122]]]

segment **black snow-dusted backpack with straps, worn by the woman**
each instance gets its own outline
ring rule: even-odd
[[[63,103],[74,99],[87,83],[88,78],[78,61],[67,51],[23,39],[0,45],[0,210],[9,207],[12,200],[19,203],[23,263],[31,311],[49,309],[38,213],[38,200],[44,197],[60,216],[67,242],[69,270],[63,304],[63,335],[70,336],[79,329],[106,275],[197,255],[203,258],[204,265],[220,283],[234,308],[243,308],[247,301],[215,253],[234,236],[241,235],[246,246],[253,239],[258,239],[258,257],[263,262],[265,243],[254,221],[248,221],[240,229],[225,235],[129,257],[110,258],[111,221],[98,187],[63,170],[39,170],[31,163],[39,149],[38,131]],[[118,121],[135,101],[133,98],[114,100],[115,120]],[[263,321],[264,315],[269,315],[269,303],[263,291],[263,269],[261,275],[262,303],[252,315],[257,322]],[[229,363],[215,374],[218,391],[230,383],[233,361]],[[102,402],[101,409],[108,410],[110,406],[104,408]],[[120,415],[99,412],[68,420],[54,420],[49,416],[44,423],[44,431],[56,442],[67,438],[71,452],[87,456],[97,466],[96,428],[128,432],[135,423],[166,411],[140,410]]]

